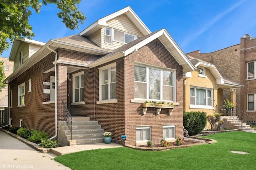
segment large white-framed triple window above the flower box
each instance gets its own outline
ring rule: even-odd
[[[134,65],[134,99],[174,101],[175,72]]]

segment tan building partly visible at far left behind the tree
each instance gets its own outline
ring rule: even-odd
[[[13,62],[9,61],[6,57],[0,57],[0,60],[4,62],[4,75],[8,77],[13,72]],[[8,108],[8,87],[4,87],[0,92],[0,109]]]

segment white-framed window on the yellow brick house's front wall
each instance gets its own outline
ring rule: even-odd
[[[213,90],[190,87],[190,107],[212,107]]]

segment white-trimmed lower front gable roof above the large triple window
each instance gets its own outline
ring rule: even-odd
[[[112,53],[109,53],[101,57],[100,59],[93,61],[88,66],[95,67],[96,65],[100,65],[102,63],[114,60],[116,58],[127,56],[130,53],[137,51],[144,45],[152,42],[156,38],[158,38],[163,43],[163,45],[172,54],[172,56],[176,59],[179,65],[183,67],[184,72],[194,71],[194,66],[192,65],[192,63],[189,61],[189,59],[186,57],[186,55],[183,53],[180,47],[176,44],[176,42],[174,42],[172,37],[168,34],[168,32],[165,29],[153,32],[142,38],[139,38],[138,40],[134,40],[133,42],[122,45],[121,47],[114,49]]]

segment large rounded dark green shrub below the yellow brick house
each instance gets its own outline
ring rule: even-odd
[[[205,125],[205,112],[183,112],[183,126],[188,130],[189,135],[196,135],[202,132]]]

